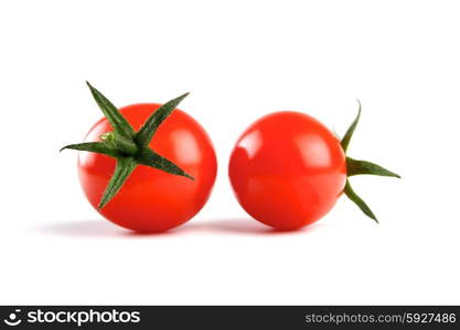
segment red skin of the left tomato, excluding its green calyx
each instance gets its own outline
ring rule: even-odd
[[[159,107],[139,103],[119,110],[138,131]],[[110,131],[110,124],[103,118],[89,130],[85,142],[98,142],[100,134]],[[138,165],[120,191],[99,210],[97,206],[114,174],[116,160],[79,152],[78,175],[88,201],[107,220],[135,231],[160,232],[186,222],[201,210],[211,195],[217,163],[204,129],[179,109],[159,127],[149,145],[191,174],[194,180]]]

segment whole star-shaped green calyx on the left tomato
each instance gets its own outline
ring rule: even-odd
[[[191,175],[149,147],[149,143],[160,124],[189,94],[184,94],[161,106],[147,119],[142,128],[136,132],[120,111],[104,95],[89,82],[86,81],[86,84],[114,131],[101,134],[101,142],[69,144],[61,148],[61,151],[65,148],[87,151],[104,154],[117,161],[115,173],[99,201],[99,209],[104,208],[117,195],[138,165],[150,166],[193,180]]]

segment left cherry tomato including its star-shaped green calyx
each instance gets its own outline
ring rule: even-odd
[[[205,205],[217,164],[212,142],[191,116],[164,105],[115,108],[88,84],[103,110],[79,150],[78,175],[90,205],[106,219],[140,232],[160,232],[193,218]]]

